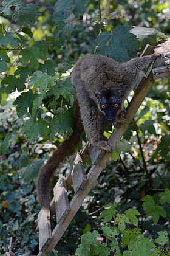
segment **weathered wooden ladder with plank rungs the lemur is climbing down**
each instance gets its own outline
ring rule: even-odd
[[[170,43],[170,41],[168,42]],[[154,50],[152,47],[147,45],[142,55],[149,55],[153,52]],[[165,52],[165,49],[163,52]],[[113,150],[115,150],[117,147],[118,142],[120,142],[121,137],[134,118],[135,113],[151,89],[152,84],[154,83],[153,76],[154,78],[160,78],[170,75],[169,67],[165,66],[165,60],[162,59],[163,58],[157,58],[157,60],[154,62],[154,68],[151,64],[146,77],[141,79],[141,82],[135,91],[135,95],[126,109],[127,122],[124,124],[117,123],[113,133],[109,137],[109,144],[112,145]],[[39,212],[38,256],[44,255],[46,252],[51,252],[55,248],[56,244],[58,241],[60,241],[62,235],[64,234],[64,231],[67,229],[78,209],[81,207],[84,199],[90,192],[90,189],[94,187],[98,176],[110,157],[110,153],[106,153],[104,150],[98,150],[97,148],[92,147],[92,145],[89,147],[89,153],[92,159],[92,167],[90,168],[89,172],[86,173],[83,166],[84,159],[87,158],[86,155],[88,154],[86,147],[81,154],[77,153],[77,156],[72,164],[72,169],[66,178],[62,176],[56,183],[53,189],[54,197],[50,203],[50,210],[41,210]],[[67,190],[69,190],[72,185],[75,195],[69,202]],[[51,230],[50,216],[52,216],[53,213],[56,215],[57,224],[55,228]]]

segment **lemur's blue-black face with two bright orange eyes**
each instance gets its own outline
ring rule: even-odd
[[[107,121],[113,122],[121,110],[121,101],[117,97],[103,97],[99,102],[99,108]]]

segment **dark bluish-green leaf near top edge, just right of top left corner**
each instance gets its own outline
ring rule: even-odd
[[[33,26],[36,22],[39,12],[36,9],[35,4],[27,4],[25,6],[20,6],[12,16],[13,20],[18,25],[29,24]]]

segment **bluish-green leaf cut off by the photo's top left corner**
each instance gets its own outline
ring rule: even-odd
[[[21,0],[4,0],[1,2],[0,13],[4,13],[4,15],[12,15],[12,7],[20,7],[24,5]]]

